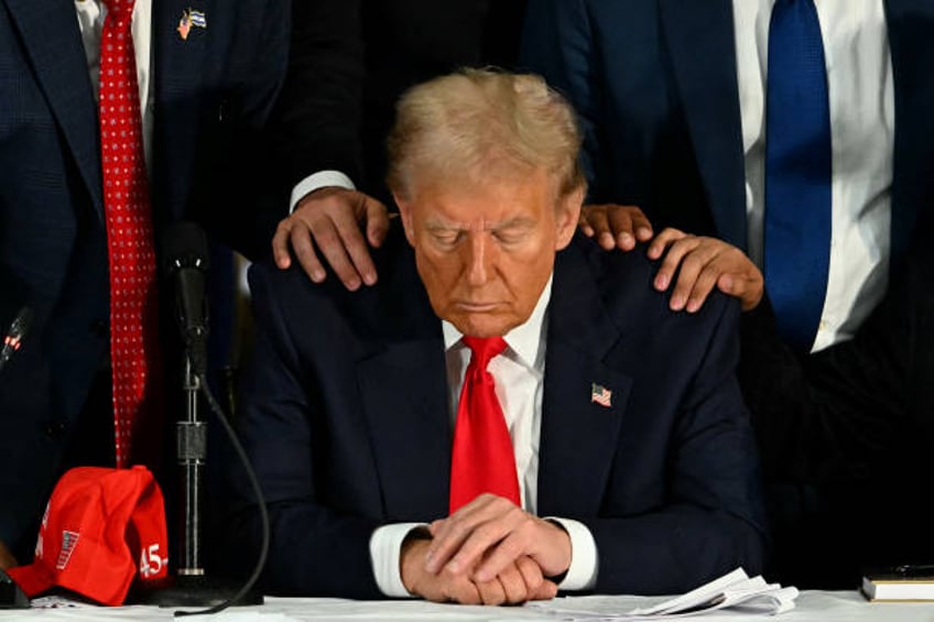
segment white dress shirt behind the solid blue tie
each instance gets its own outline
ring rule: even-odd
[[[774,0],[734,0],[749,253],[762,266],[765,79]],[[886,293],[894,90],[882,0],[814,0],[830,106],[833,204],[827,294],[813,351],[850,339]]]

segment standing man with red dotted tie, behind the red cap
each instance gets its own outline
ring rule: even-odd
[[[0,567],[29,560],[65,468],[162,456],[156,241],[195,219],[268,248],[252,156],[287,33],[279,0],[0,0],[0,321],[33,315],[0,370]]]

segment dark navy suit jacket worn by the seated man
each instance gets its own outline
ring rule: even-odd
[[[240,432],[269,503],[274,592],[379,597],[372,531],[447,513],[441,320],[400,230],[377,261],[379,283],[356,294],[251,269],[259,335]],[[641,253],[583,238],[554,271],[537,512],[590,528],[599,592],[678,592],[762,565],[757,457],[734,375],[738,308],[715,295],[697,315],[674,314],[653,272]],[[591,402],[591,383],[612,391],[610,407]],[[252,510],[231,521],[226,548],[242,559],[257,525]]]

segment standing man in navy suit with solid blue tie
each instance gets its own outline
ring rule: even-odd
[[[854,372],[871,357],[848,343],[930,226],[934,10],[912,0],[532,0],[528,18],[524,65],[583,118],[595,233],[615,241],[618,205],[634,204],[763,269],[768,301],[745,318],[745,394],[767,473],[822,485],[774,498],[778,519],[792,514],[789,546],[776,547],[790,580],[849,587],[860,564],[913,558],[911,530],[892,519],[914,515],[913,479],[898,473],[913,469],[902,460],[913,465],[926,437],[909,438],[917,422],[879,390],[898,386],[901,369],[872,364],[861,381]],[[694,255],[678,279],[709,257]],[[661,272],[664,288],[675,273]],[[910,352],[893,330],[870,339],[898,343],[901,359]],[[830,488],[826,457],[846,463]],[[884,500],[866,502],[869,482]],[[826,524],[805,537],[795,514],[814,508]],[[852,546],[879,525],[889,525],[882,538]]]

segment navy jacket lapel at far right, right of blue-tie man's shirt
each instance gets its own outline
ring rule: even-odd
[[[892,163],[892,263],[911,242],[920,208],[928,207],[930,164],[934,162],[934,3],[917,0],[887,0],[886,22],[892,54],[895,96],[895,138]]]

